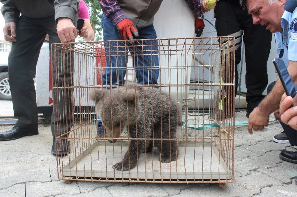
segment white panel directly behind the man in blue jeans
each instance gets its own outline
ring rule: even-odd
[[[164,0],[154,16],[154,28],[157,33],[157,38],[159,39],[168,39],[168,38],[192,38],[194,32],[194,16],[189,8],[188,4],[185,1],[178,0]],[[187,72],[184,68],[181,68],[185,64],[189,65],[192,63],[192,53],[187,52],[187,55],[184,51],[178,51],[176,55],[175,49],[184,49],[183,46],[185,40],[178,39],[170,41],[159,41],[159,57],[160,57],[160,66],[168,67],[169,69],[162,68],[160,70],[160,76],[158,83],[162,85],[167,84],[186,84],[190,81],[191,67],[188,67]],[[188,40],[187,44],[190,44],[192,40]],[[170,43],[170,46],[169,46]],[[180,46],[176,46],[176,43]],[[189,46],[186,47],[187,49]],[[181,54],[182,53],[182,54]],[[128,67],[132,67],[131,59],[128,59]],[[179,69],[176,69],[176,65],[181,66]],[[131,80],[133,76],[133,71],[128,70],[128,80]],[[176,74],[178,73],[178,74]],[[178,76],[178,77],[177,77]],[[168,91],[168,87],[162,87],[162,90]],[[171,96],[177,95],[179,101],[185,95],[185,87],[180,88],[170,88]]]

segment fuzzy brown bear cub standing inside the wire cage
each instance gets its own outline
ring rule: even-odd
[[[108,90],[91,89],[91,100],[95,101],[97,115],[108,138],[119,138],[125,128],[129,138],[176,138],[181,113],[177,101],[167,92],[152,87],[122,87]],[[162,123],[162,125],[161,125]],[[162,130],[161,130],[162,128]],[[162,136],[161,136],[162,133]],[[114,143],[117,139],[109,140]],[[130,140],[129,150],[122,162],[113,165],[116,170],[129,170],[137,165],[141,153],[151,152],[152,140]],[[161,150],[162,144],[162,150]],[[175,161],[178,155],[176,140],[154,140],[161,153],[160,162]],[[130,160],[130,163],[129,163]]]

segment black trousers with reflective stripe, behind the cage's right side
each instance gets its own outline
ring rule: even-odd
[[[270,52],[272,33],[266,30],[265,26],[260,24],[254,25],[252,15],[248,14],[247,9],[243,10],[241,8],[239,1],[218,1],[214,14],[217,36],[235,37],[235,65],[241,61],[243,36],[246,63],[247,112],[252,112],[264,98],[262,93],[268,84],[266,62]],[[235,69],[235,84],[235,92],[237,92],[237,69]]]

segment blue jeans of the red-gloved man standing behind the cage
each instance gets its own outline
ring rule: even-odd
[[[112,20],[102,14],[103,40],[105,42],[106,66],[102,76],[102,85],[123,85],[126,75],[126,62],[129,53],[132,55],[132,63],[135,68],[137,83],[157,85],[159,78],[159,56],[157,41],[137,41],[137,39],[157,38],[154,25],[138,29],[138,37],[134,41],[119,41],[119,33]],[[134,43],[134,45],[133,45]],[[98,119],[98,132],[101,130],[102,121]]]

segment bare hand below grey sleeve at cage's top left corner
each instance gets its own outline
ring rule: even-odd
[[[57,32],[61,43],[74,42],[78,35],[70,18],[60,18],[58,20]]]

